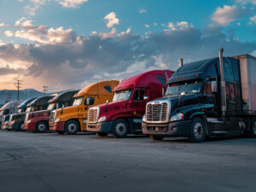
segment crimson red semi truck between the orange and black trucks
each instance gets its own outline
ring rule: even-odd
[[[142,118],[147,101],[163,96],[170,70],[153,70],[124,79],[113,91],[113,101],[90,108],[87,131],[100,137],[142,133]]]

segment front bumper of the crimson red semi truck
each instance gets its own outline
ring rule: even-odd
[[[92,132],[112,132],[112,125],[113,121],[105,121],[101,123],[87,123],[86,131],[92,131]]]

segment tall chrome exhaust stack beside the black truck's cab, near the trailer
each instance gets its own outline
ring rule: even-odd
[[[219,49],[218,58],[219,58],[219,71],[220,71],[220,105],[221,105],[222,116],[225,116],[227,111],[227,100],[226,100],[226,84],[224,81],[223,52],[224,52],[223,48]]]

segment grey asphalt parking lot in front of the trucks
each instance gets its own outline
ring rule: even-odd
[[[256,139],[0,131],[1,192],[256,191]]]

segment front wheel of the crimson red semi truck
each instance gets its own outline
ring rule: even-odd
[[[125,119],[117,119],[113,122],[112,132],[113,136],[117,138],[127,137],[129,131],[129,125],[126,123]]]

